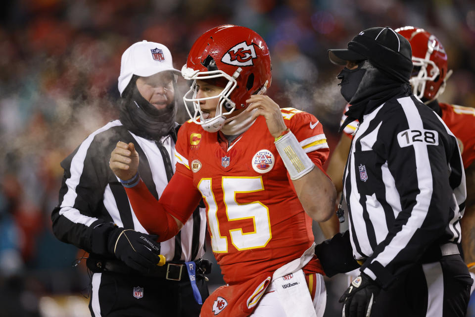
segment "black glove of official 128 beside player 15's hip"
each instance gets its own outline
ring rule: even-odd
[[[320,260],[328,277],[360,267],[360,264],[353,258],[348,230],[344,233],[337,233],[332,239],[325,240],[315,246],[315,255]]]

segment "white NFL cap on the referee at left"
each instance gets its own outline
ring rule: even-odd
[[[119,92],[122,96],[132,75],[148,77],[162,71],[181,74],[173,68],[172,54],[166,46],[147,42],[137,42],[122,54],[120,62]]]

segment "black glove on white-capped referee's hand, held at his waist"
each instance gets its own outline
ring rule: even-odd
[[[160,243],[150,235],[132,229],[114,229],[109,236],[108,248],[117,259],[142,273],[148,273],[163,258],[159,257]]]

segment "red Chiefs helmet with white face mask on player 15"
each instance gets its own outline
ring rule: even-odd
[[[251,95],[262,94],[270,87],[271,68],[266,43],[251,29],[222,25],[205,32],[194,42],[187,63],[182,68],[183,77],[193,80],[190,90],[183,97],[185,105],[186,102],[193,103],[193,114],[187,107],[191,120],[202,125],[206,131],[220,130],[226,115],[235,109],[246,108],[246,100]],[[197,99],[196,80],[206,79],[214,80],[215,85],[224,89],[217,96]],[[197,116],[202,115],[199,101],[214,98],[219,98],[215,117],[204,122],[197,121]]]

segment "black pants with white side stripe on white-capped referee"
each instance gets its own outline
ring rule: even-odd
[[[209,296],[207,284],[198,276],[196,285],[204,302]],[[135,293],[136,287],[142,292]],[[193,297],[189,279],[105,272],[93,275],[89,310],[92,317],[198,317],[201,305]]]

